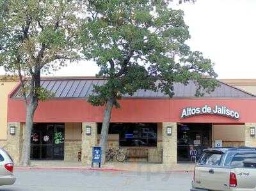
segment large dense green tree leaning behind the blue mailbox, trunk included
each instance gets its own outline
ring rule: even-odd
[[[100,67],[97,77],[107,79],[94,86],[88,102],[105,106],[100,137],[106,151],[113,107],[123,95],[138,89],[161,91],[173,96],[173,84],[196,82],[196,96],[213,91],[216,73],[210,59],[186,45],[190,38],[181,10],[168,1],[86,1],[87,19],[79,39],[86,59]],[[104,156],[103,156],[104,162]]]

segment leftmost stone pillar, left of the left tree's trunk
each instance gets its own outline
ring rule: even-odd
[[[15,164],[19,164],[22,155],[23,144],[23,123],[7,124],[7,145],[6,149],[10,153]],[[15,126],[15,135],[10,135],[10,126]]]

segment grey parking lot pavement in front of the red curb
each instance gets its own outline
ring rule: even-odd
[[[4,191],[31,190],[179,190],[187,191],[191,173],[106,172],[74,170],[15,171],[14,185],[0,187]]]

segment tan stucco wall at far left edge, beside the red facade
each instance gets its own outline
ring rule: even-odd
[[[18,82],[2,82],[0,80],[0,140],[7,138],[7,101],[8,94]]]

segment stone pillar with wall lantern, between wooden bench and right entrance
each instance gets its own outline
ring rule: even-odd
[[[167,135],[167,126],[172,126],[172,135]],[[177,123],[163,123],[163,164],[168,167],[177,164]]]

